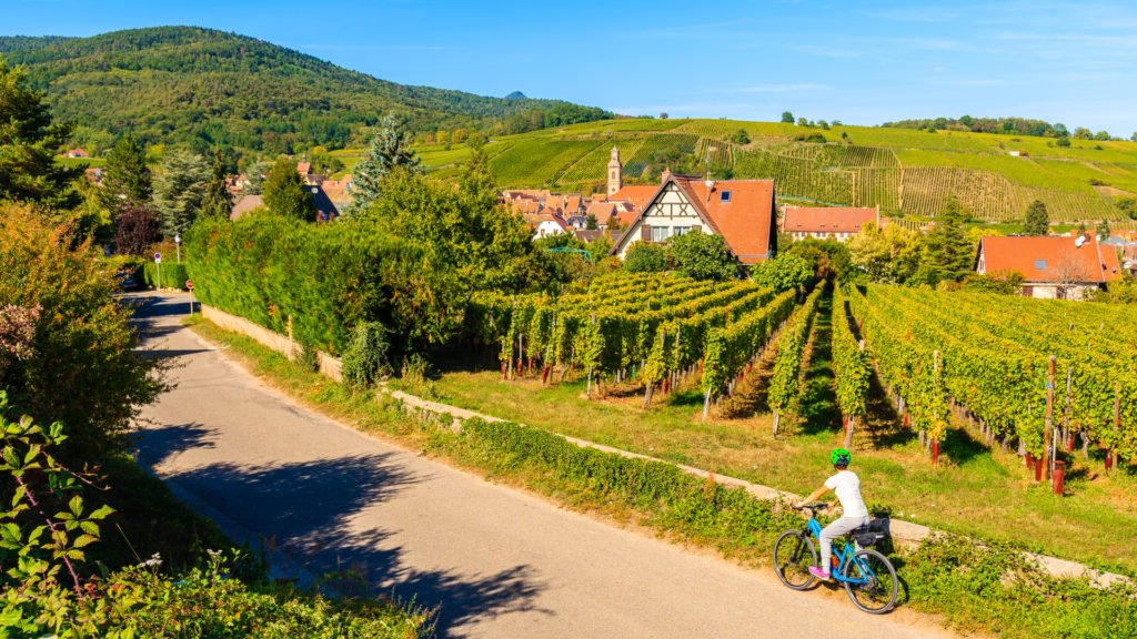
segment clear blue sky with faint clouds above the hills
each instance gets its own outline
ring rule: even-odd
[[[1137,3],[5,0],[2,34],[192,24],[385,80],[639,115],[1137,131]],[[543,5],[543,6],[542,6]]]

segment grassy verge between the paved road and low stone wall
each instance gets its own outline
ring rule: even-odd
[[[800,518],[740,489],[688,475],[671,464],[579,448],[547,431],[513,423],[449,423],[413,417],[393,401],[352,395],[257,342],[208,323],[193,330],[229,356],[321,413],[379,432],[423,454],[475,470],[567,506],[649,526],[662,536],[717,549],[744,564],[763,562],[774,534]],[[1120,638],[1137,634],[1137,588],[1093,588],[1057,580],[1015,549],[939,536],[895,556],[910,606],[955,628],[1001,637]]]

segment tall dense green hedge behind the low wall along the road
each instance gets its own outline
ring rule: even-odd
[[[291,317],[300,343],[333,355],[360,322],[398,326],[392,282],[413,271],[412,251],[368,225],[267,215],[204,221],[186,233],[185,250],[199,301],[279,333]]]

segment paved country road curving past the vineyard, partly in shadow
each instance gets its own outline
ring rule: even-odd
[[[139,300],[147,348],[177,363],[177,388],[144,413],[140,458],[230,531],[275,539],[316,574],[351,566],[440,605],[440,637],[949,637],[360,434],[180,327],[184,296]]]

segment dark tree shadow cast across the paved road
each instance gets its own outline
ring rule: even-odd
[[[190,423],[148,429],[136,445],[143,459],[160,463],[214,442],[207,430]],[[407,473],[392,454],[259,466],[219,463],[171,479],[341,592],[393,594],[437,607],[438,637],[479,619],[538,609],[533,599],[543,584],[528,565],[475,576],[423,571],[404,564],[391,532],[359,523],[370,507],[426,479]]]

